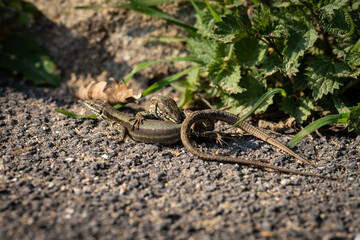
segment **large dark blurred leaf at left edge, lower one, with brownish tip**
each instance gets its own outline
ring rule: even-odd
[[[0,44],[0,67],[21,73],[35,84],[58,86],[60,76],[49,54],[35,42],[8,37]]]

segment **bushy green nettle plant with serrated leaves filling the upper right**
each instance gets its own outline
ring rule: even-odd
[[[197,65],[185,81],[173,84],[183,93],[181,105],[203,92],[217,108],[231,106],[229,111],[244,115],[271,89],[281,88],[281,96],[268,95],[256,112],[275,104],[298,123],[317,112],[337,112],[315,127],[341,122],[360,134],[358,1],[190,2],[197,19],[193,27],[151,1],[118,6],[163,18],[192,35],[187,44]],[[354,107],[339,109],[338,102]]]

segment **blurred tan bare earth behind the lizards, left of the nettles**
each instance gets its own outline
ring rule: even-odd
[[[151,38],[185,36],[183,29],[160,19],[115,8],[115,3],[106,0],[31,2],[45,17],[26,34],[50,52],[62,72],[62,89],[71,93],[91,80],[100,81],[109,77],[120,80],[144,61],[188,55],[181,42],[165,43]],[[114,7],[76,9],[90,5]],[[183,21],[194,21],[190,17],[191,6],[174,3],[166,5],[163,10]],[[166,62],[152,65],[136,74],[130,87],[144,90],[155,80],[184,70],[189,64]]]

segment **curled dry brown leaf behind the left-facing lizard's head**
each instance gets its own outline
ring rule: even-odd
[[[110,104],[118,104],[134,102],[141,97],[141,93],[135,95],[123,79],[119,83],[114,78],[109,78],[108,81],[93,80],[88,85],[81,86],[76,96],[82,100],[99,99]]]

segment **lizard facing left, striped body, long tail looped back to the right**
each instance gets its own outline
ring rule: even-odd
[[[274,170],[278,170],[281,172],[287,172],[292,174],[299,174],[305,176],[312,176],[312,177],[320,177],[320,178],[327,178],[333,179],[331,177],[313,174],[313,173],[306,173],[297,170],[290,170],[286,168],[281,168],[277,166],[273,166],[270,164],[261,163],[256,160],[244,160],[240,158],[233,158],[233,157],[226,157],[226,156],[213,156],[210,154],[202,153],[196,150],[190,142],[190,134],[191,129],[194,124],[199,124],[199,120],[208,121],[209,117],[216,120],[223,120],[228,123],[232,123],[234,119],[238,119],[236,115],[234,119],[228,119],[229,114],[219,110],[212,110],[217,111],[216,113],[207,113],[203,111],[191,113],[189,117],[186,117],[182,124],[174,123],[172,121],[164,121],[164,120],[153,120],[153,119],[143,119],[142,123],[139,124],[138,127],[134,127],[136,125],[136,117],[134,118],[133,115],[127,114],[124,112],[117,111],[114,109],[110,104],[100,101],[84,101],[84,104],[87,108],[92,110],[99,118],[104,119],[109,124],[111,124],[114,128],[116,128],[120,132],[120,141],[124,140],[126,135],[129,135],[135,141],[145,142],[145,143],[161,143],[165,145],[170,145],[178,142],[180,140],[183,141],[184,146],[188,151],[195,156],[198,156],[204,160],[210,161],[218,161],[218,162],[232,162],[232,163],[239,163],[239,164],[247,164],[253,165],[257,167],[265,167]],[[204,110],[206,111],[206,110]],[[198,114],[199,113],[199,114]],[[205,114],[205,116],[204,116]],[[207,115],[208,114],[208,115]],[[146,114],[145,114],[146,115]],[[160,114],[161,115],[161,114]],[[141,116],[144,116],[141,114]],[[200,118],[198,117],[200,116]],[[231,115],[230,115],[231,116]],[[251,126],[251,125],[250,125]]]

